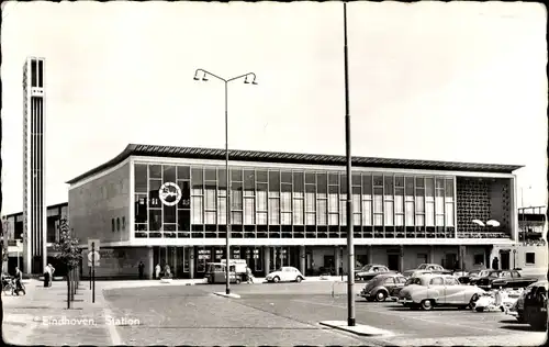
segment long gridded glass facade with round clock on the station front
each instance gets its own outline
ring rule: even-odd
[[[228,186],[232,237],[347,237],[345,171],[229,170],[226,182],[224,167],[135,164],[135,236],[224,238]],[[456,237],[453,177],[356,172],[351,182],[355,237]]]

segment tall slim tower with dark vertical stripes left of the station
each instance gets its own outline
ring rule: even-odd
[[[44,58],[36,57],[26,58],[23,66],[23,267],[26,273],[42,273],[47,264],[44,66]]]

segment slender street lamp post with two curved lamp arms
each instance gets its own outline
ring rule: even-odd
[[[199,78],[202,76],[202,78]],[[228,265],[228,259],[229,259],[229,245],[228,245],[228,239],[231,237],[231,184],[229,184],[229,172],[228,172],[228,83],[232,81],[235,81],[237,79],[244,78],[245,83],[251,83],[251,85],[257,85],[256,82],[256,74],[254,72],[248,72],[245,75],[236,76],[229,79],[222,78],[217,75],[214,75],[210,71],[206,71],[204,69],[197,69],[194,72],[194,80],[203,80],[208,81],[208,76],[211,76],[213,78],[216,78],[225,83],[225,174],[226,174],[226,189],[227,189],[227,195],[226,195],[226,211],[227,211],[227,216],[226,216],[226,236],[225,236],[225,277],[226,277],[226,287],[225,287],[225,293],[228,295],[231,294],[231,278],[229,278],[229,265]],[[249,79],[249,80],[248,80]]]

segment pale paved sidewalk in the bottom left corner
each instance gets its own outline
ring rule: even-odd
[[[112,345],[105,324],[101,290],[91,301],[89,286],[80,282],[71,309],[67,310],[67,283],[29,280],[25,296],[2,296],[3,338],[14,345]]]

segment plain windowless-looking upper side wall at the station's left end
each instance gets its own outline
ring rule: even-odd
[[[112,231],[112,221],[115,231]],[[130,239],[130,165],[69,190],[69,221],[81,243]],[[120,231],[117,230],[120,221]]]

